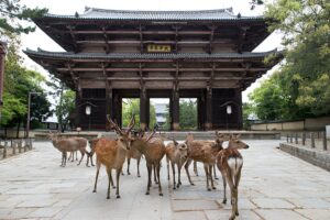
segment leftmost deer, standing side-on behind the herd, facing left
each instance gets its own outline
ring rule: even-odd
[[[59,138],[57,133],[50,133],[48,138],[51,139],[53,145],[62,152],[62,167],[66,166],[67,152],[79,151],[81,153],[81,158],[77,165],[80,165],[87,146],[87,139],[85,138]],[[88,156],[88,154],[87,154]],[[88,164],[86,164],[88,166]]]

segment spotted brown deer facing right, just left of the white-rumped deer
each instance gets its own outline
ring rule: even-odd
[[[216,164],[216,156],[218,152],[220,152],[222,147],[222,143],[227,140],[224,134],[216,133],[216,142],[205,142],[205,141],[191,141],[188,139],[186,142],[188,145],[188,160],[185,164],[185,169],[188,176],[188,180],[190,185],[195,185],[191,182],[189,174],[189,165],[193,161],[204,163],[204,169],[207,177],[207,190],[211,190],[209,186],[209,182],[211,182],[212,189],[216,189],[212,178],[212,168]]]

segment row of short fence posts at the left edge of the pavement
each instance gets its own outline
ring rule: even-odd
[[[33,139],[0,140],[0,158],[6,158],[33,148]]]

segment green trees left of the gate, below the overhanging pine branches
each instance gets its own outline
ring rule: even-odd
[[[9,36],[10,44],[4,66],[6,84],[1,125],[6,129],[16,125],[16,135],[19,135],[21,124],[26,122],[29,92],[41,94],[40,96],[33,96],[31,99],[32,128],[51,114],[51,103],[47,101],[42,88],[45,78],[40,73],[23,67],[22,58],[18,53],[20,41],[14,34],[9,34]]]

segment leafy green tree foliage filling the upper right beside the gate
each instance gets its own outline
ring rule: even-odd
[[[271,31],[283,32],[285,63],[250,99],[260,119],[330,114],[330,2],[277,0],[266,6]]]

